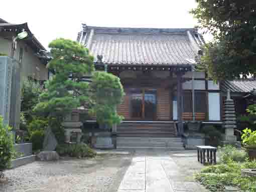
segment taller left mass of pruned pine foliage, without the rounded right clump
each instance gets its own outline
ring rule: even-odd
[[[46,91],[40,95],[35,111],[62,116],[88,104],[88,83],[82,78],[93,71],[93,58],[82,45],[65,39],[49,44],[53,59],[48,68],[55,72],[45,84]]]

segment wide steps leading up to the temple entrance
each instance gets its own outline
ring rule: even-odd
[[[117,127],[117,148],[184,150],[173,123],[122,123]]]

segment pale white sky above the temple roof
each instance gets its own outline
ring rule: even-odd
[[[76,40],[81,24],[98,27],[193,28],[195,0],[2,0],[0,18],[28,23],[48,48],[56,38]],[[12,8],[12,12],[10,9]]]

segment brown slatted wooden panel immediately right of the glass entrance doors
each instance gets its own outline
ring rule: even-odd
[[[157,119],[170,120],[170,91],[164,88],[157,89]]]

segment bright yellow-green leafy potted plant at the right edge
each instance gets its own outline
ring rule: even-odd
[[[249,159],[256,159],[256,131],[246,128],[242,132],[242,143],[248,152]]]

